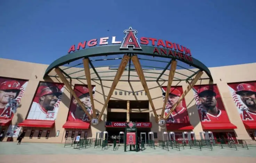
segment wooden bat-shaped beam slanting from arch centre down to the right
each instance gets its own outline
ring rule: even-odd
[[[147,98],[149,98],[149,103],[150,103],[151,108],[153,110],[153,113],[154,113],[154,116],[155,116],[155,121],[158,122],[157,111],[155,111],[155,106],[154,106],[154,103],[152,101],[152,98],[151,98],[151,95],[150,95],[150,92],[149,92],[149,88],[147,87],[146,79],[145,79],[145,76],[144,76],[142,68],[141,68],[141,63],[139,63],[138,56],[137,55],[133,55],[131,57],[131,60],[133,61],[133,65],[134,65],[134,67],[135,67],[135,69],[137,71],[139,80],[141,80],[141,84],[142,84],[145,92],[147,93]]]

